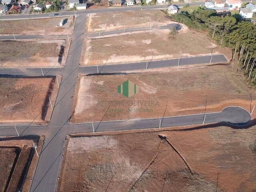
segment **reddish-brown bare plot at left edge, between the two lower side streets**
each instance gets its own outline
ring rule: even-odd
[[[60,77],[58,77],[60,82]],[[46,124],[58,93],[55,77],[0,77],[0,124]]]

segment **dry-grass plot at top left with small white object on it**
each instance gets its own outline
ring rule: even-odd
[[[62,19],[68,19],[64,26],[58,26]],[[0,21],[0,35],[4,34],[33,34],[55,35],[72,34],[74,17],[54,17],[43,19],[4,20]]]

